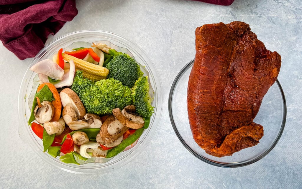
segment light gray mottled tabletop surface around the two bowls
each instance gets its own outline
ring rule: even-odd
[[[76,175],[45,163],[18,136],[17,98],[31,58],[21,61],[0,45],[0,188],[301,188],[300,0],[235,0],[218,6],[186,0],[77,1],[79,14],[47,43],[76,30],[98,29],[129,38],[153,60],[161,77],[163,113],[146,149],[106,174]],[[219,168],[191,155],[169,120],[168,95],[182,67],[195,55],[195,28],[234,20],[250,24],[258,39],[282,57],[278,76],[287,121],[277,146],[258,162]]]

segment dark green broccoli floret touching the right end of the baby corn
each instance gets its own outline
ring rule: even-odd
[[[140,66],[129,54],[110,49],[113,59],[106,65],[109,70],[107,78],[114,78],[131,88],[138,78],[143,76]]]

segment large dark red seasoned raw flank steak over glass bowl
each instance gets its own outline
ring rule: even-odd
[[[188,117],[196,143],[213,156],[255,146],[263,127],[253,122],[281,67],[244,22],[198,27],[188,82]]]

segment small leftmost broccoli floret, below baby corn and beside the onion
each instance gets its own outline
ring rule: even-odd
[[[76,75],[73,79],[71,89],[76,92],[80,99],[82,99],[83,92],[89,88],[91,85],[94,85],[94,81],[84,78],[82,75],[82,70],[77,70]]]

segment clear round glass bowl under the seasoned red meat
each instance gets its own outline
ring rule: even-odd
[[[176,76],[169,94],[169,116],[173,129],[182,144],[200,160],[219,167],[240,167],[252,164],[267,155],[280,139],[286,120],[286,102],[283,90],[277,80],[264,96],[260,110],[254,119],[263,125],[264,136],[259,144],[232,156],[215,157],[207,154],[194,141],[187,110],[187,86],[194,59]]]

